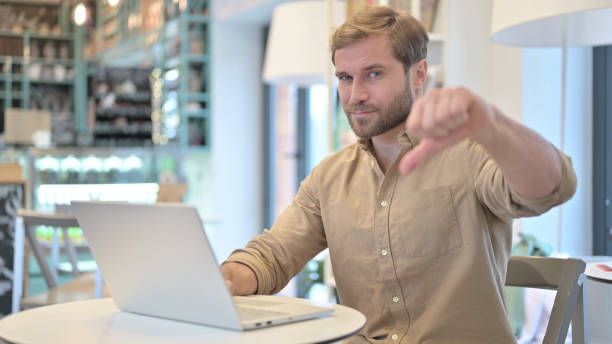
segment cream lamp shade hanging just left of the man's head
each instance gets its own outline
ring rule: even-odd
[[[344,22],[344,2],[333,1],[333,25]],[[326,1],[279,5],[272,15],[263,79],[271,84],[325,84],[331,55]]]

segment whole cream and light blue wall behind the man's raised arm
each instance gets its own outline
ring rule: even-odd
[[[489,38],[491,1],[445,1],[446,84],[467,86],[558,146],[561,49],[493,43]],[[588,255],[592,246],[591,61],[590,49],[570,49],[565,151],[573,159],[579,185],[576,195],[562,207],[561,251],[571,255]],[[534,234],[554,248],[558,223],[558,210],[552,210],[515,221],[515,230]]]

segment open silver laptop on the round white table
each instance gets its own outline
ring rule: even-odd
[[[82,201],[71,206],[122,311],[239,331],[333,313],[331,307],[290,298],[232,297],[193,206]]]

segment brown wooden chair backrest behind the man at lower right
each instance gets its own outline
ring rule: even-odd
[[[585,343],[585,267],[582,260],[575,258],[510,257],[507,286],[557,290],[543,344],[565,343],[570,322],[572,343]]]

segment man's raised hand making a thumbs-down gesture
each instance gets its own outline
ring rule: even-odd
[[[463,87],[431,90],[416,99],[406,120],[406,131],[421,142],[399,163],[409,174],[425,160],[471,137],[483,143],[493,137],[495,111],[484,99]]]

